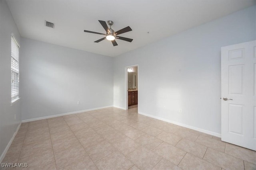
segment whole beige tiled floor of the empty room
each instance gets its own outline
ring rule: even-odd
[[[22,123],[3,162],[37,170],[251,170],[256,152],[139,115],[137,107],[110,107]]]

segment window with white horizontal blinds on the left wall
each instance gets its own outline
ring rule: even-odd
[[[19,98],[19,45],[12,36],[11,40],[11,97],[12,102]]]

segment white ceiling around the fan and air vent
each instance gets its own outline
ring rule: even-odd
[[[6,0],[22,37],[115,57],[238,10],[255,0]],[[44,21],[55,28],[44,26]],[[112,20],[132,43],[94,43],[105,33],[98,20]],[[149,33],[147,33],[149,32]]]

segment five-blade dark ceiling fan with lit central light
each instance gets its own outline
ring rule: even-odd
[[[94,43],[98,43],[98,42],[100,42],[100,41],[102,41],[102,40],[104,40],[104,39],[107,39],[107,40],[111,41],[114,46],[118,45],[118,44],[116,43],[116,40],[115,40],[115,39],[121,39],[121,40],[124,40],[124,41],[132,42],[133,39],[117,36],[117,35],[119,35],[119,34],[132,31],[132,29],[131,29],[129,26],[128,26],[128,27],[125,27],[125,28],[123,28],[123,29],[120,29],[119,31],[116,31],[116,32],[115,32],[115,31],[111,28],[111,25],[113,25],[113,23],[114,23],[113,21],[108,21],[108,25],[110,25],[109,28],[108,28],[108,25],[107,25],[106,21],[101,21],[101,20],[99,20],[99,22],[100,22],[100,24],[102,25],[102,27],[106,30],[106,34],[84,30],[84,32],[87,32],[87,33],[95,33],[95,34],[105,35],[105,37],[103,37],[103,38],[101,38],[101,39],[98,39],[97,41],[94,41]]]

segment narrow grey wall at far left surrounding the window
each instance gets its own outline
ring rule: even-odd
[[[10,106],[11,33],[14,33],[20,43],[20,33],[14,23],[12,14],[5,0],[0,0],[0,162],[1,155],[21,121],[21,99]],[[16,120],[14,115],[16,115]]]

